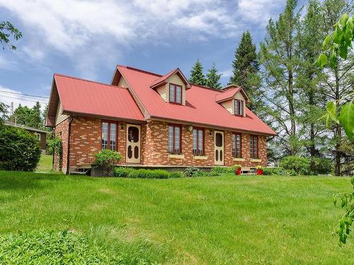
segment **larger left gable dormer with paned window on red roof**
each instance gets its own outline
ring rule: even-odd
[[[165,102],[185,105],[185,90],[190,89],[191,86],[181,70],[177,68],[157,78],[150,88],[156,90]]]

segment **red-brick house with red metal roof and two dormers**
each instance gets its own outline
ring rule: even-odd
[[[239,86],[197,86],[180,69],[161,76],[118,65],[109,85],[55,74],[46,126],[63,152],[54,167],[74,172],[102,148],[133,167],[266,166],[275,132],[248,102]]]

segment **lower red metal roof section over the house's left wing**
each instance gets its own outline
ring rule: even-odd
[[[57,73],[54,80],[64,112],[144,121],[142,112],[127,88]]]

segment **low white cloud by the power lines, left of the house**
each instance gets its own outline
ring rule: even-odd
[[[8,106],[10,106],[11,102],[13,102],[13,110],[15,110],[16,107],[18,107],[18,105],[20,104],[23,106],[33,107],[36,101],[40,102],[42,110],[44,110],[45,104],[47,104],[48,101],[45,98],[33,98],[33,97],[28,97],[26,95],[18,95],[18,94],[23,94],[23,93],[21,93],[21,91],[13,90],[0,85],[0,102],[3,102]],[[8,111],[10,111],[10,107],[8,107]]]

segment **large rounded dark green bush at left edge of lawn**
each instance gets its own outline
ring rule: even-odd
[[[40,146],[33,134],[13,126],[0,129],[0,170],[33,171],[40,160]]]

